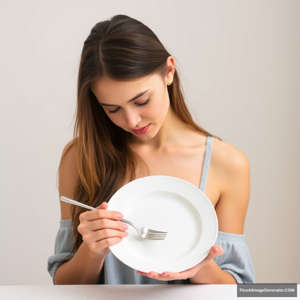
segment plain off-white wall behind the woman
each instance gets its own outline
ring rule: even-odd
[[[0,284],[52,284],[56,176],[80,52],[95,23],[115,14],[158,35],[197,122],[247,155],[256,281],[300,283],[299,1],[2,0]]]

